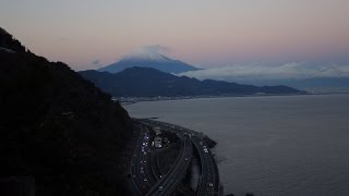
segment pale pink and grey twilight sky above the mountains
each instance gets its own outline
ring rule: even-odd
[[[143,46],[201,68],[348,60],[348,0],[0,0],[0,26],[74,70]]]

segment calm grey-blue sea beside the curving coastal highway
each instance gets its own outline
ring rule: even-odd
[[[125,106],[203,132],[225,193],[349,195],[349,95],[207,98]]]

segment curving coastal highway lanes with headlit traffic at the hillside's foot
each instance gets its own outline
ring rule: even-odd
[[[201,133],[148,119],[136,120],[136,122],[140,124],[141,132],[130,172],[132,185],[137,195],[176,195],[176,193],[181,193],[181,195],[222,195],[217,164]],[[179,138],[178,157],[170,163],[171,168],[167,173],[161,172],[158,164],[155,166],[154,156],[156,156],[158,148],[154,147],[154,134],[152,134],[154,130],[173,133]],[[186,171],[190,170],[194,150],[198,155],[201,173],[196,191],[188,191],[181,182]]]

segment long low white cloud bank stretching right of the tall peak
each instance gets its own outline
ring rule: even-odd
[[[222,81],[297,79],[317,77],[349,77],[349,63],[290,62],[284,64],[233,64],[180,73],[198,79]]]

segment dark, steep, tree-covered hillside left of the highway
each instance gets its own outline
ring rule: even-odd
[[[36,195],[124,195],[118,170],[127,111],[67,64],[0,32],[0,177],[35,179]]]

